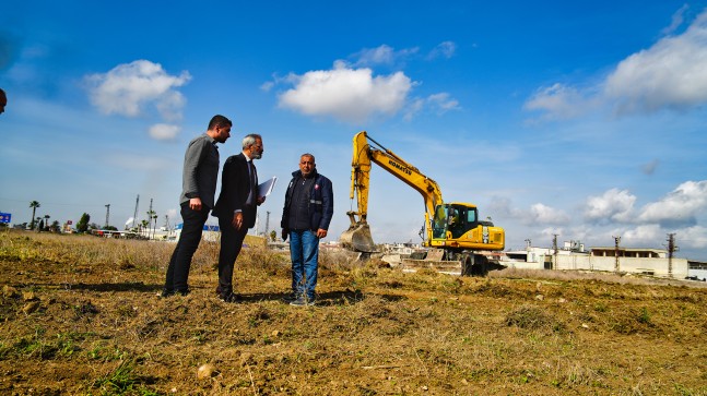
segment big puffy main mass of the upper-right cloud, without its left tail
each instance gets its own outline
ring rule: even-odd
[[[707,103],[707,12],[679,36],[623,60],[606,79],[618,113],[687,109]]]

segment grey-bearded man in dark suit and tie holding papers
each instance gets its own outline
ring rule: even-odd
[[[251,133],[243,139],[243,152],[226,159],[221,176],[221,194],[212,215],[219,217],[221,251],[219,252],[219,287],[216,293],[225,302],[237,302],[233,292],[233,268],[248,228],[256,225],[258,205],[258,172],[254,159],[262,157],[262,137]]]

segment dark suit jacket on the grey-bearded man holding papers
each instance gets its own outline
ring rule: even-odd
[[[254,167],[255,168],[255,167]],[[256,172],[256,185],[258,182]],[[256,188],[257,189],[257,188]],[[257,204],[246,205],[250,193],[250,176],[248,161],[243,153],[232,155],[223,165],[221,175],[221,193],[219,201],[212,211],[212,215],[220,219],[232,219],[234,212],[240,209],[244,216],[244,225],[252,228],[256,225]],[[257,193],[257,190],[256,190]],[[257,196],[256,196],[257,199]],[[255,201],[255,200],[254,200]]]

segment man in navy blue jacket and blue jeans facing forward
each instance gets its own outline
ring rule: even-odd
[[[319,266],[319,239],[327,237],[334,213],[331,181],[317,172],[315,156],[303,154],[292,172],[282,211],[282,239],[290,237],[292,305],[313,305]]]

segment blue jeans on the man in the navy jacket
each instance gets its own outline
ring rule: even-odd
[[[319,238],[310,230],[290,231],[290,257],[292,259],[292,291],[314,300],[317,287]],[[304,279],[303,279],[304,278]]]

